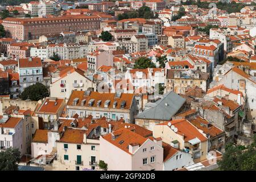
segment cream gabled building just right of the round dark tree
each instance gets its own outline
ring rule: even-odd
[[[51,97],[69,98],[72,90],[86,91],[94,88],[93,82],[80,69],[67,67],[60,71],[57,78],[52,79],[50,85]]]

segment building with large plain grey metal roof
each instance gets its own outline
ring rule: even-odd
[[[142,113],[136,116],[136,124],[152,131],[154,125],[170,121],[172,116],[181,113],[185,108],[183,97],[174,92],[168,92],[163,95],[162,99],[146,104]]]

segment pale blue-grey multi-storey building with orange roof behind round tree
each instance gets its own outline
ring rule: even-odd
[[[20,92],[36,82],[43,83],[43,65],[39,57],[19,59]]]

